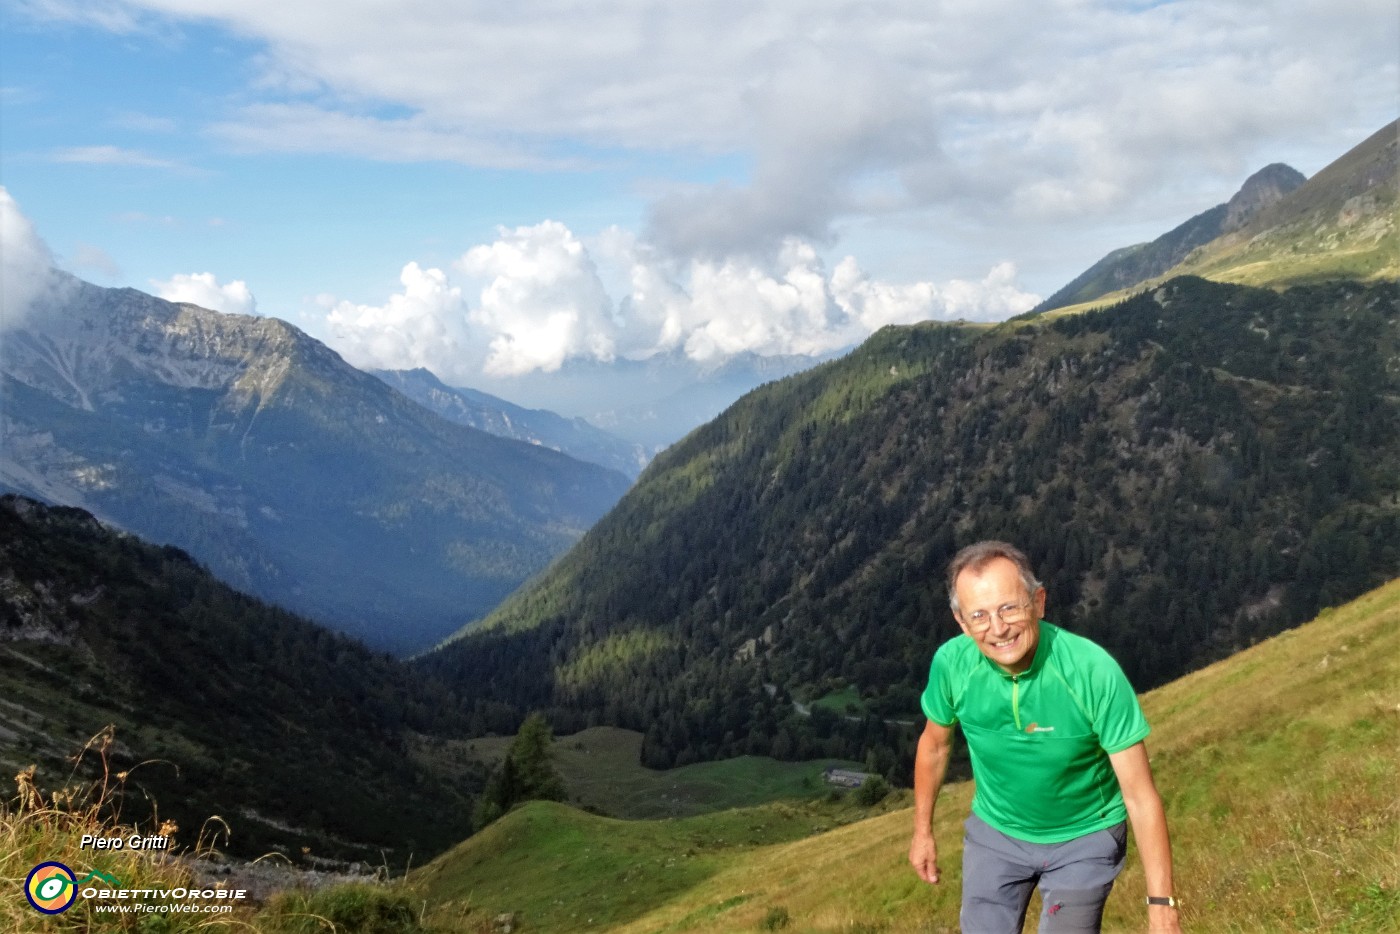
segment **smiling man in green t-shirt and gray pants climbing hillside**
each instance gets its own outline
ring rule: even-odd
[[[1148,927],[1179,931],[1172,844],[1152,783],[1147,720],[1117,662],[1042,620],[1046,591],[1005,542],[965,548],[948,567],[963,634],[934,654],[914,760],[909,861],[939,878],[934,801],[962,724],[977,790],[963,836],[962,930],[1019,933],[1040,885],[1040,931],[1098,931],[1123,870],[1124,818],[1147,875]]]

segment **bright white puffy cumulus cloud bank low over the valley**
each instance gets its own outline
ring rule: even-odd
[[[427,367],[472,385],[554,372],[571,360],[609,363],[682,353],[822,356],[888,323],[998,321],[1039,295],[1001,263],[980,281],[886,283],[853,258],[827,270],[815,246],[788,238],[771,262],[676,262],[610,228],[584,242],[545,221],[498,231],[441,269],[409,263],[384,305],[322,298],[330,343],[361,367]]]

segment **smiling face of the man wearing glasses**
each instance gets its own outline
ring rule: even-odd
[[[1030,668],[1040,644],[1040,618],[1046,612],[1046,588],[1026,592],[1016,566],[1005,557],[994,557],[980,567],[966,567],[955,583],[959,612],[955,619],[962,630],[977,643],[981,654],[1005,668],[1012,675]],[[1026,608],[1028,616],[1018,623],[1007,623],[995,612],[1008,604]],[[983,611],[990,618],[986,630],[976,630],[967,620]]]

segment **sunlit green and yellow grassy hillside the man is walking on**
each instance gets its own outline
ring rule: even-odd
[[[1400,580],[1144,706],[1187,930],[1396,930]],[[902,798],[816,833],[843,819],[820,811],[834,805],[659,822],[526,805],[414,881],[444,930],[514,913],[528,931],[953,931],[970,791],[939,800],[937,888],[904,861]],[[1106,930],[1141,930],[1142,895],[1130,854]]]

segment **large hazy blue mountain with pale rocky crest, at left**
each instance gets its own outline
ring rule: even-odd
[[[627,489],[452,424],[286,322],[71,277],[0,371],[0,489],[398,651],[489,611]]]

